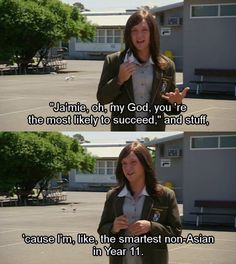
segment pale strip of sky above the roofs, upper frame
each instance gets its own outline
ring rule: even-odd
[[[140,6],[164,6],[181,2],[181,0],[61,0],[64,3],[73,4],[80,2],[91,11],[116,11],[135,9]]]

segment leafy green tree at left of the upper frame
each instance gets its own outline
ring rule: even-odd
[[[94,34],[80,9],[60,0],[0,0],[0,57],[10,54],[21,68],[60,40],[92,40]]]

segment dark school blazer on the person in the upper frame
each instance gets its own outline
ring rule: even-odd
[[[100,82],[97,90],[97,100],[101,104],[110,104],[114,105],[125,105],[125,110],[121,114],[119,111],[113,111],[111,113],[111,120],[116,117],[135,117],[135,112],[131,112],[127,109],[129,103],[134,103],[134,93],[133,93],[133,84],[132,77],[129,78],[122,85],[117,84],[117,78],[119,74],[120,65],[124,62],[125,52],[116,52],[110,54],[106,57],[103,65],[103,70],[100,78]],[[153,83],[152,91],[150,96],[149,108],[151,112],[149,116],[154,115],[153,105],[170,105],[165,99],[161,98],[161,89],[163,84],[166,86],[165,91],[171,92],[174,91],[175,86],[175,65],[173,61],[168,59],[165,56],[162,56],[164,60],[167,61],[167,67],[165,70],[157,69],[153,67]],[[171,111],[168,111],[168,115],[179,114],[180,112],[176,111],[175,107],[171,107]],[[164,131],[165,124],[163,121],[164,113],[158,112],[155,113],[157,123],[148,124],[147,131]],[[158,118],[157,118],[158,117]],[[111,122],[111,131],[135,131],[135,124],[114,124]]]

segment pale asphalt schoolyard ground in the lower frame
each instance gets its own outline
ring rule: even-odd
[[[103,248],[108,245],[100,243],[96,232],[106,194],[103,192],[68,192],[67,194],[67,202],[59,205],[0,207],[2,264],[108,263]],[[94,237],[98,244],[95,245],[93,241],[90,241],[91,244],[83,244],[82,242],[85,241],[77,240],[78,234],[85,234],[91,239]],[[214,243],[169,244],[170,264],[236,263],[234,230],[212,231],[188,228],[183,230],[182,237],[187,237],[189,234],[196,237],[200,237],[200,234],[214,237]],[[51,244],[29,244],[29,239],[34,242],[35,236],[50,236]],[[75,241],[74,245],[66,243],[69,242],[66,236],[70,236]],[[93,256],[93,247],[101,249],[102,255]]]

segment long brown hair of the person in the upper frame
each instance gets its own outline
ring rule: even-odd
[[[147,22],[150,31],[150,53],[152,60],[157,68],[164,69],[167,61],[160,54],[160,33],[157,22],[153,15],[145,9],[136,11],[129,17],[126,23],[124,32],[125,51],[127,52],[130,49],[134,56],[138,58],[136,48],[132,43],[131,30],[143,20]]]

